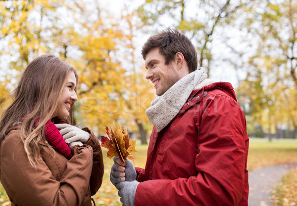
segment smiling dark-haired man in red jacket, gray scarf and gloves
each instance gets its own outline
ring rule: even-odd
[[[146,168],[115,158],[110,180],[124,206],[247,206],[246,119],[230,83],[197,70],[191,41],[175,29],[151,36],[142,55],[157,98]]]

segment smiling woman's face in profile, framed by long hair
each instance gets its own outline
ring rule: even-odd
[[[77,101],[75,92],[76,79],[73,72],[70,72],[66,77],[66,83],[63,86],[62,94],[59,99],[58,106],[54,113],[55,117],[63,118],[69,116],[70,106],[73,102]]]

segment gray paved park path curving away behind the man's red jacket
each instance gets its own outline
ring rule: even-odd
[[[272,206],[269,201],[273,186],[297,164],[272,165],[248,173],[248,206]]]

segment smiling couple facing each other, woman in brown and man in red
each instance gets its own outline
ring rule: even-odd
[[[175,29],[151,36],[142,55],[157,94],[146,111],[154,127],[145,169],[114,158],[110,181],[123,205],[247,206],[246,120],[231,84],[207,79]],[[24,71],[0,121],[1,183],[12,205],[92,205],[102,152],[89,128],[72,125],[77,80],[52,55]]]

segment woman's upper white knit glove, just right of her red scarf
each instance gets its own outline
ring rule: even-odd
[[[70,124],[55,124],[56,127],[60,130],[60,134],[63,136],[63,139],[67,144],[75,141],[81,141],[85,143],[90,137],[90,133],[84,131],[76,126]]]

